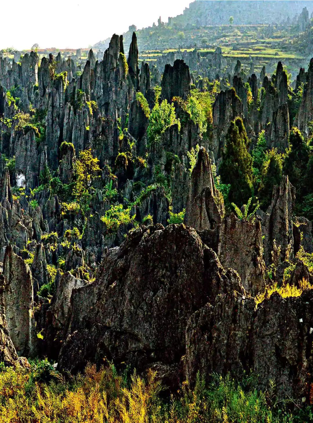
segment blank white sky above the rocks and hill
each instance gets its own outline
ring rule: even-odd
[[[15,47],[79,48],[138,29],[167,22],[192,0],[0,0],[0,49]]]

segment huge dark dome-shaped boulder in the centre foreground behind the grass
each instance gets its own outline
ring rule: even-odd
[[[193,229],[135,231],[109,250],[96,282],[73,291],[58,366],[77,371],[104,356],[139,369],[177,363],[188,316],[229,284],[216,254]]]

